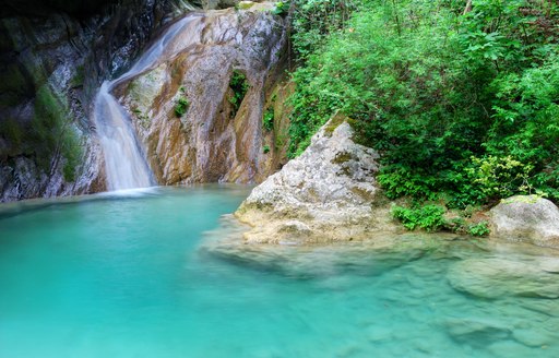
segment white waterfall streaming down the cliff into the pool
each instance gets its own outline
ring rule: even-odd
[[[114,81],[105,81],[97,93],[93,114],[105,156],[108,190],[145,188],[156,183],[130,116],[110,92],[118,84],[154,68],[162,58],[176,55],[179,48],[188,45],[177,46],[173,43],[177,34],[185,28],[190,29],[188,25],[193,19],[198,16],[188,15],[171,25],[128,72]]]

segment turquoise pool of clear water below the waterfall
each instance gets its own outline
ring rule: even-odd
[[[450,286],[452,264],[496,255],[473,242],[293,249],[300,265],[201,250],[247,194],[157,188],[0,217],[0,357],[559,356],[558,300]]]

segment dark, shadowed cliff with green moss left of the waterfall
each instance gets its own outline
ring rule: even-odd
[[[181,0],[12,1],[0,19],[0,202],[105,189],[88,111]]]

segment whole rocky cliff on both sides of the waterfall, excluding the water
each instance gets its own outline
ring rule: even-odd
[[[9,1],[1,13],[0,201],[105,190],[95,94],[193,9],[182,0],[35,2]],[[284,20],[271,3],[245,8],[192,15],[168,58],[116,91],[159,183],[261,181],[283,164]]]

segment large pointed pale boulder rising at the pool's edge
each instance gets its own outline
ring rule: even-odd
[[[352,241],[394,230],[376,187],[379,156],[352,135],[335,116],[300,157],[254,188],[235,213],[252,227],[247,242]]]

